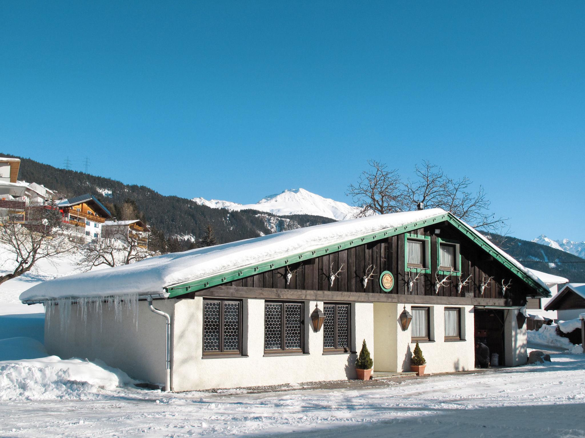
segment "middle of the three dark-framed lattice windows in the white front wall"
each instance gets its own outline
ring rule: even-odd
[[[304,347],[302,303],[264,304],[264,352],[302,353]]]

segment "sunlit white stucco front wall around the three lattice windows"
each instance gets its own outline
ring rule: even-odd
[[[319,301],[323,310],[323,303]],[[173,332],[174,391],[276,385],[319,380],[355,378],[357,354],[323,354],[323,329],[315,333],[309,315],[315,301],[305,301],[305,346],[308,354],[264,356],[264,300],[243,300],[243,353],[247,357],[202,359],[203,300],[179,300],[175,307]],[[357,321],[357,325],[356,325]],[[352,305],[352,350],[362,340],[373,352],[373,304]],[[246,339],[247,333],[247,339]],[[375,361],[375,359],[374,359]]]

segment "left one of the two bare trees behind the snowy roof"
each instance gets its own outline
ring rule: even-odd
[[[402,183],[397,169],[388,170],[386,164],[368,160],[370,169],[363,171],[356,185],[347,187],[346,196],[362,210],[356,217],[402,211]]]

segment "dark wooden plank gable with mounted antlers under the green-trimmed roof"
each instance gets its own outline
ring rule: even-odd
[[[435,234],[435,230],[441,230]],[[290,283],[287,284],[286,267],[268,270],[253,274],[242,279],[229,281],[218,286],[245,287],[245,288],[272,288],[279,290],[305,290],[305,291],[333,291],[346,293],[366,294],[402,294],[428,297],[473,297],[473,298],[511,298],[511,304],[522,305],[526,296],[534,295],[534,290],[503,266],[492,256],[488,255],[479,245],[464,235],[448,222],[435,223],[429,227],[420,228],[410,233],[430,238],[430,273],[421,273],[417,283],[414,283],[412,291],[408,291],[408,273],[405,272],[405,234],[394,235],[387,239],[380,239],[364,245],[357,245],[342,251],[332,252],[303,262],[292,263],[288,268],[292,272]],[[435,274],[438,266],[438,237],[443,240],[455,241],[460,246],[461,278],[466,279],[471,275],[469,284],[464,286],[460,293],[457,292],[459,277],[451,276],[448,286],[441,287],[435,293]],[[337,272],[343,264],[343,272],[335,279],[333,286],[329,283],[329,273]],[[367,282],[364,289],[362,277],[370,265],[376,266],[373,279]],[[394,276],[394,287],[390,292],[384,291],[380,286],[380,273],[390,271]],[[416,273],[411,274],[414,278]],[[485,276],[493,277],[490,287],[484,289],[481,294],[480,285]],[[439,280],[445,276],[438,275]],[[502,293],[501,281],[512,281],[507,290],[507,296]],[[214,288],[211,288],[214,289]],[[208,289],[209,290],[209,289]],[[197,295],[205,295],[205,290]],[[346,296],[346,294],[343,294]]]

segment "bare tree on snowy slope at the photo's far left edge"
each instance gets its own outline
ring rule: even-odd
[[[2,266],[8,273],[0,274],[0,284],[29,272],[39,260],[51,262],[79,244],[53,205],[27,206],[18,219],[0,217],[0,243],[8,254]]]

